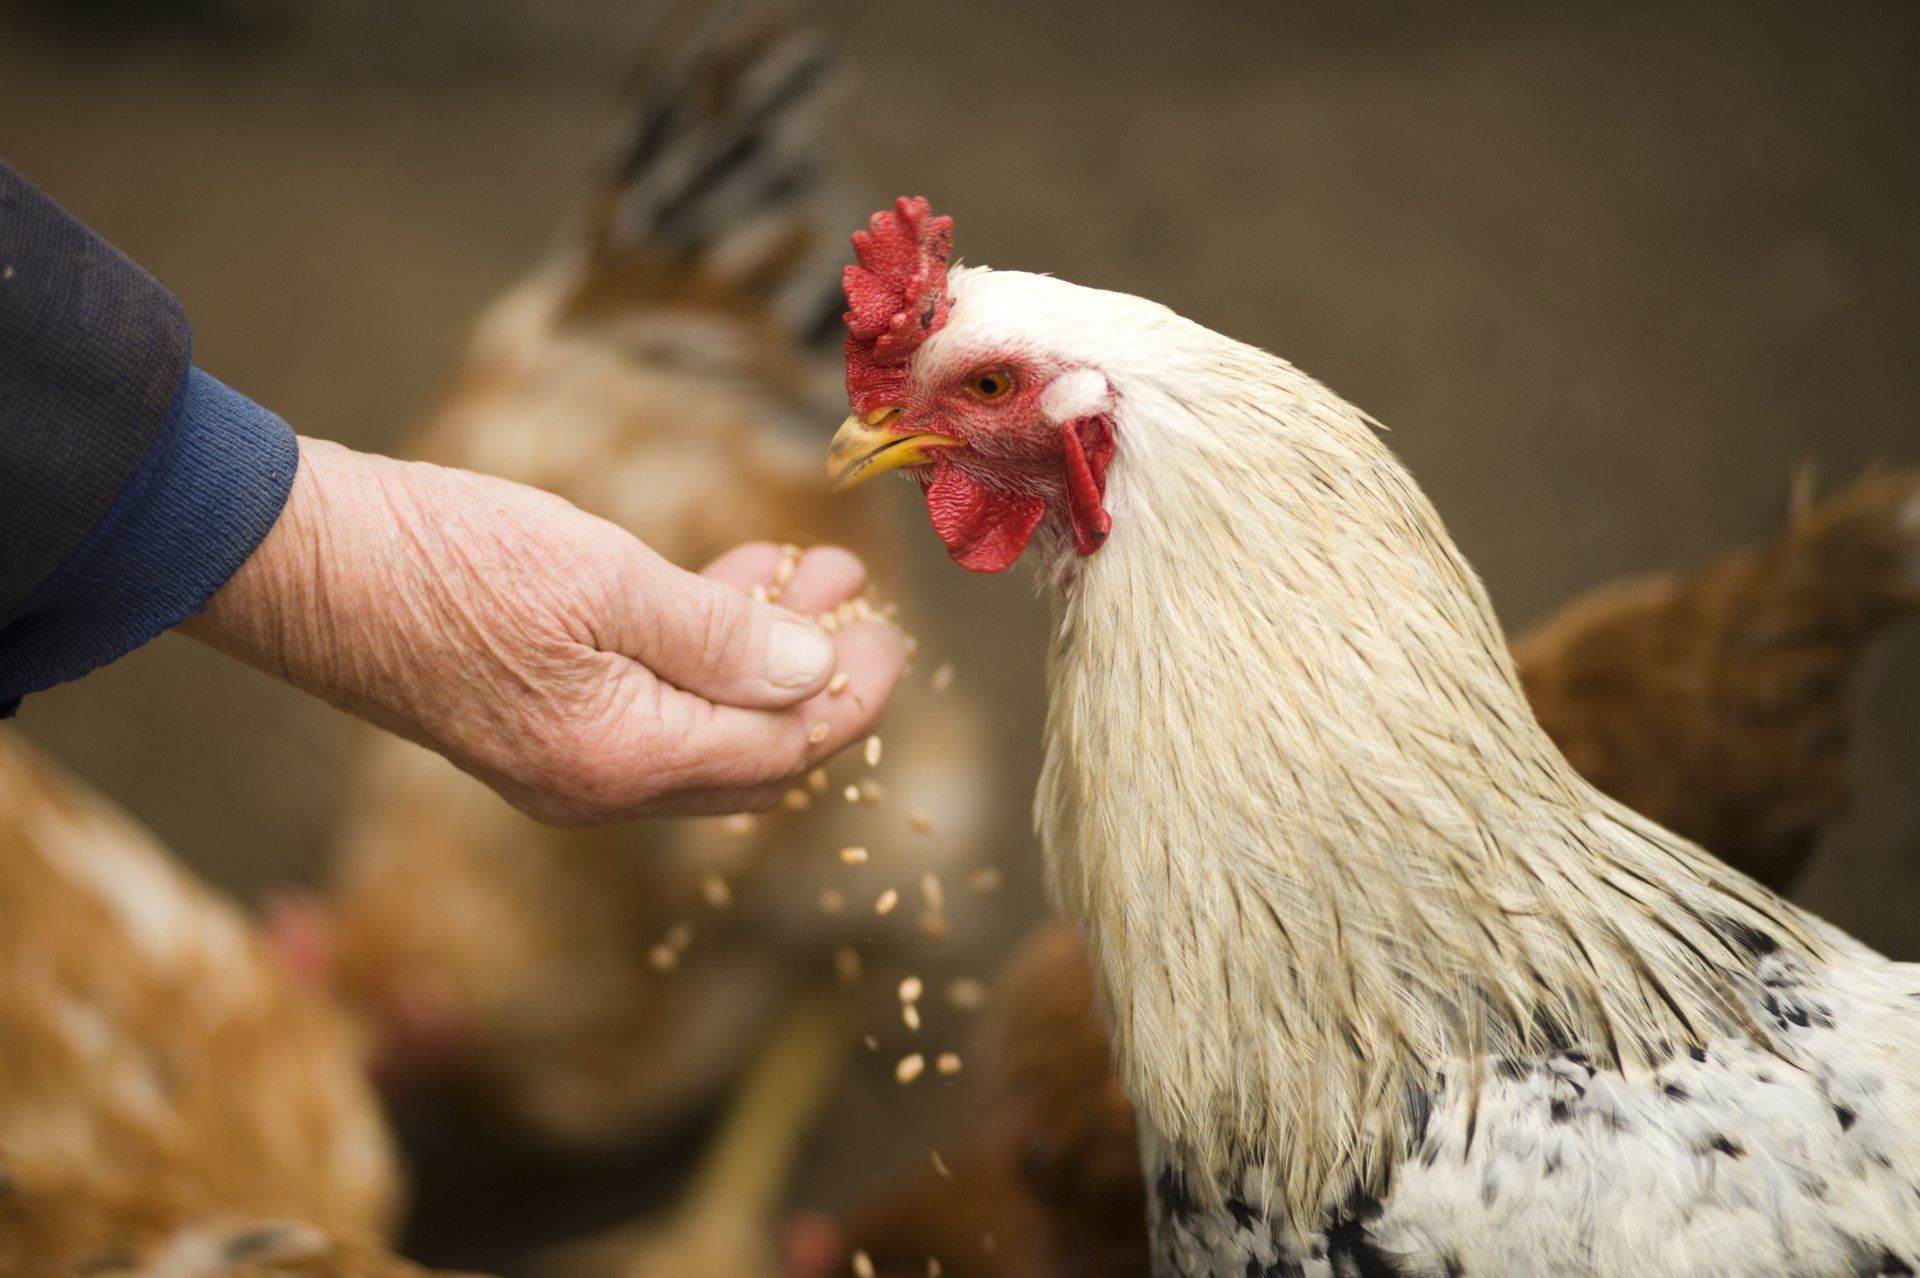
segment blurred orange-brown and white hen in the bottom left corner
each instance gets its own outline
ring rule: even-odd
[[[346,1023],[12,733],[0,896],[0,1272],[420,1272]]]

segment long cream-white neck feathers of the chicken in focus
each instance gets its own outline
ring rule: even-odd
[[[1121,1077],[1298,1226],[1404,1155],[1409,1088],[1576,1042],[1749,1032],[1789,906],[1582,781],[1486,593],[1371,422],[1188,328],[1114,378],[1114,533],[1062,585],[1039,825]]]

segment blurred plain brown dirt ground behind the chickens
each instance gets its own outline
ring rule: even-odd
[[[31,8],[0,19],[0,155],[182,297],[205,368],[367,449],[399,447],[551,242],[647,19]],[[858,0],[822,23],[862,196],[924,192],[973,261],[1146,294],[1315,372],[1392,428],[1509,624],[1766,533],[1801,461],[1920,462],[1910,0]],[[1031,748],[1041,604],[939,581]],[[1920,629],[1862,693],[1864,800],[1799,896],[1920,958]],[[234,890],[313,877],[344,731],[267,679],[167,637],[21,727]],[[524,1236],[461,1220],[528,1190],[467,1197],[445,1169],[476,1159],[430,1174],[420,1247],[511,1265]],[[872,1172],[820,1153],[803,1195]]]

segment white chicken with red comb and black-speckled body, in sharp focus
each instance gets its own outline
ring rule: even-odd
[[[1037,823],[1156,1274],[1912,1272],[1920,971],[1574,771],[1371,418],[948,272],[920,200],[854,248],[833,482],[1056,589]]]

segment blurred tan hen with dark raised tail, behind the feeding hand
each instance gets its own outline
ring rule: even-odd
[[[879,507],[833,501],[816,459],[835,368],[808,340],[833,326],[843,244],[820,207],[826,81],[781,15],[664,38],[584,230],[486,315],[419,455],[561,493],[687,566],[747,537],[852,547],[899,597]],[[780,601],[812,610],[803,580]],[[991,802],[972,708],[918,685],[883,760],[874,743],[755,819],[545,829],[369,739],[330,890],[346,996],[396,1067],[536,1136],[645,1140],[831,982],[839,946],[948,927],[916,904],[924,877],[958,867]],[[843,864],[852,846],[870,862]],[[908,906],[876,917],[889,887]]]

